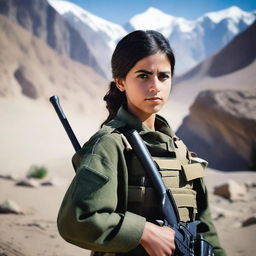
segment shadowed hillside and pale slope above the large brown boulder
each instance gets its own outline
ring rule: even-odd
[[[255,28],[254,23],[217,54],[184,76],[176,77],[164,112],[175,130],[189,114],[189,107],[201,91],[255,90]]]

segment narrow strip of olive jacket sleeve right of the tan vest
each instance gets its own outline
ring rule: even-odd
[[[214,247],[215,256],[226,256],[224,249],[221,247],[217,231],[213,224],[211,211],[208,203],[207,188],[203,179],[198,179],[195,184],[197,191],[197,219],[201,221],[198,225],[198,232],[202,233],[204,239]]]

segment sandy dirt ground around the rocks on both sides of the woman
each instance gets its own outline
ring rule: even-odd
[[[22,215],[0,214],[1,256],[86,256],[90,252],[65,242],[58,234],[56,217],[73,173],[62,177],[59,185],[29,188],[16,186],[12,180],[0,178],[0,202],[15,201]],[[256,225],[241,227],[241,223],[256,214],[256,188],[248,197],[231,202],[213,195],[213,187],[229,179],[239,183],[256,182],[255,172],[223,173],[208,170],[209,199],[220,240],[229,256],[255,255]]]

